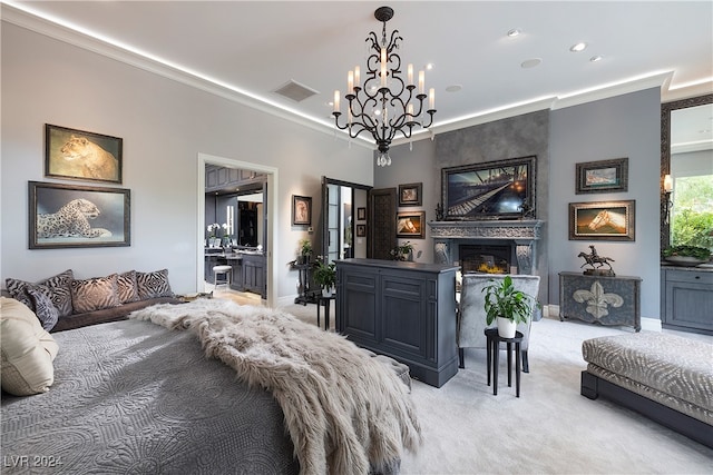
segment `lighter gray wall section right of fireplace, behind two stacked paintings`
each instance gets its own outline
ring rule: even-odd
[[[628,191],[576,195],[575,164],[628,157]],[[555,110],[550,116],[550,303],[559,299],[558,273],[576,271],[590,244],[612,257],[622,276],[642,283],[642,317],[660,318],[661,96],[647,89]],[[568,204],[635,200],[635,241],[568,239]],[[557,249],[553,251],[551,249]]]

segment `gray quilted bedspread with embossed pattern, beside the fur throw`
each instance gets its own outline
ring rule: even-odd
[[[49,393],[2,394],[2,473],[299,473],[283,413],[193,334],[117,321],[53,335]]]

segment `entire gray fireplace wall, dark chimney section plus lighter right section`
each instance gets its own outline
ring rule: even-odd
[[[558,273],[579,270],[584,261],[577,255],[594,244],[599,255],[615,259],[617,275],[643,278],[642,316],[658,320],[660,109],[660,90],[653,88],[437,135],[434,141],[413,142],[413,151],[409,145],[393,147],[391,167],[374,167],[374,186],[423,181],[423,208],[431,220],[442,200],[442,167],[536,155],[537,217],[547,221],[536,267],[547,288],[546,303],[558,305]],[[576,195],[577,162],[622,157],[628,157],[627,192]],[[636,201],[635,241],[569,240],[568,204],[628,199]],[[430,245],[427,229],[418,246]],[[432,255],[424,253],[418,260],[432,261]]]

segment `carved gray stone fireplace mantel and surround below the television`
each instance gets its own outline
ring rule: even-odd
[[[488,220],[488,221],[429,221],[433,238],[433,257],[438,264],[453,263],[453,248],[460,243],[509,241],[515,246],[519,274],[533,274],[536,244],[545,221]]]

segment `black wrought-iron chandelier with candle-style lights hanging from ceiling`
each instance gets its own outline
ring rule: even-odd
[[[348,87],[344,98],[346,119],[340,125],[340,92],[334,91],[334,122],[340,130],[348,130],[350,138],[369,132],[377,141],[379,155],[377,165],[391,165],[389,147],[397,132],[411,138],[414,127],[428,128],[433,123],[436,113],[436,95],[433,88],[426,95],[424,71],[418,72],[418,85],[413,81],[413,65],[407,66],[406,81],[402,77],[401,57],[397,53],[400,41],[399,30],[393,30],[387,42],[387,21],[393,18],[393,10],[380,7],[374,18],[383,23],[381,41],[371,31],[367,37],[367,46],[371,55],[367,58],[365,80],[361,83],[359,66],[349,71]],[[417,92],[418,89],[418,92]],[[423,113],[424,100],[428,109]],[[428,123],[426,123],[428,121]]]

